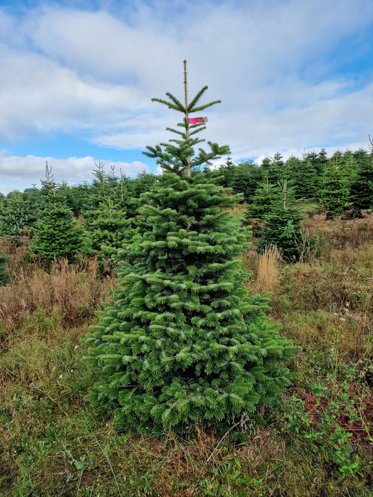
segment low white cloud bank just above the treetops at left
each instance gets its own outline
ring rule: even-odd
[[[84,179],[92,179],[95,168],[93,157],[69,157],[68,159],[55,159],[53,157],[36,157],[33,155],[19,157],[0,150],[0,191],[8,193],[15,186],[20,190],[28,188],[32,183],[40,185],[40,178],[44,179],[45,163],[52,166],[52,173],[56,182],[66,180],[68,183],[78,183]],[[104,170],[110,171],[110,166],[115,166],[115,173],[120,175],[120,169],[127,176],[134,177],[142,170],[149,170],[149,166],[140,161],[132,163],[120,161],[102,161]]]

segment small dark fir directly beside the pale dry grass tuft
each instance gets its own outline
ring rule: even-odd
[[[280,186],[280,184],[279,184]],[[298,201],[294,198],[294,188],[288,188],[284,180],[271,211],[265,216],[263,236],[259,240],[258,248],[276,245],[282,257],[287,261],[299,257],[301,245],[300,221],[304,219]]]

